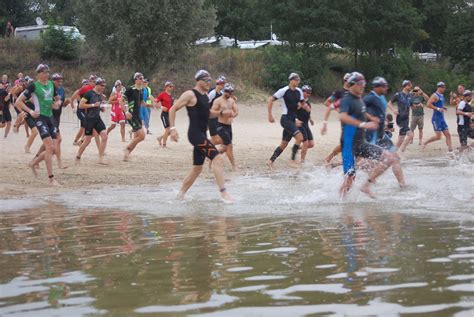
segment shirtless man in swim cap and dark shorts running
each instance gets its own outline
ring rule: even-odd
[[[217,134],[222,140],[222,146],[219,148],[220,153],[225,153],[232,165],[232,171],[237,170],[234,159],[234,149],[232,145],[232,123],[234,118],[239,115],[237,103],[234,99],[234,86],[226,83],[222,89],[222,96],[214,101],[211,114],[218,116]]]

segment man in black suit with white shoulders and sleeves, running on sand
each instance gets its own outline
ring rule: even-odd
[[[295,138],[295,144],[293,145],[291,159],[289,165],[291,167],[299,167],[300,165],[296,162],[296,154],[300,148],[300,144],[303,142],[303,134],[299,130],[296,122],[296,111],[298,107],[305,107],[303,91],[298,88],[301,81],[300,76],[297,73],[291,73],[288,77],[289,84],[268,98],[268,121],[270,123],[275,122],[272,114],[273,102],[282,99],[283,100],[283,112],[280,119],[280,124],[283,127],[283,136],[280,145],[273,152],[272,157],[267,161],[269,168],[273,168],[273,163],[280,156],[280,154],[286,149],[288,143],[292,138]]]

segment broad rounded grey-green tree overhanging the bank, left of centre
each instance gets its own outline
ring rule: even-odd
[[[104,57],[151,69],[182,56],[195,40],[213,33],[214,9],[204,0],[84,0],[78,25]]]

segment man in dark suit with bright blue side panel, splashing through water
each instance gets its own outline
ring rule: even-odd
[[[377,130],[379,124],[375,118],[366,113],[362,100],[365,88],[364,76],[353,72],[347,82],[350,85],[349,91],[342,98],[339,111],[342,124],[342,165],[345,175],[339,192],[341,196],[345,196],[351,189],[356,173],[356,158],[366,158],[372,160],[374,164],[361,191],[374,198],[370,185],[398,158],[395,154],[365,140],[365,129]],[[367,117],[373,121],[366,122]]]

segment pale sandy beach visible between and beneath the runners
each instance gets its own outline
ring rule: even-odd
[[[232,175],[251,175],[271,173],[265,165],[265,161],[271,156],[281,138],[281,127],[278,118],[281,109],[277,103],[274,106],[274,117],[277,119],[271,124],[267,121],[267,110],[262,102],[241,102],[239,104],[240,115],[233,124],[235,156],[239,166],[236,173],[230,172],[230,166],[226,162],[226,177]],[[92,142],[86,149],[81,163],[75,163],[75,154],[78,147],[72,145],[79,124],[75,113],[70,107],[65,108],[62,114],[61,134],[63,136],[62,156],[66,169],[58,169],[54,159],[54,174],[62,183],[61,188],[48,186],[46,168],[41,164],[39,177],[34,178],[27,163],[34,154],[26,154],[24,145],[26,142],[23,127],[18,134],[10,132],[8,138],[0,139],[0,162],[3,171],[3,180],[0,185],[0,198],[12,198],[15,196],[48,195],[58,192],[67,192],[85,188],[103,188],[114,185],[153,185],[163,184],[170,181],[181,180],[189,171],[192,164],[192,147],[187,140],[188,118],[183,109],[177,118],[177,129],[180,135],[178,143],[168,141],[167,148],[160,148],[156,137],[163,131],[160,121],[160,111],[153,110],[150,130],[152,135],[147,135],[144,142],[139,144],[132,153],[130,162],[123,162],[123,150],[125,144],[120,140],[119,129],[116,128],[109,136],[106,150],[108,166],[98,164],[97,148]],[[322,136],[319,131],[324,115],[325,106],[313,104],[312,118],[315,125],[312,131],[315,136],[315,148],[308,152],[307,164],[311,166],[321,165],[324,157],[337,144],[340,136],[340,123],[337,114],[331,114],[328,133]],[[12,113],[14,111],[12,110]],[[446,114],[453,139],[453,146],[459,146],[456,133],[456,117],[453,108]],[[110,124],[109,110],[102,113],[102,118],[107,126]],[[425,138],[431,137],[433,133],[431,125],[431,111],[425,114]],[[127,131],[128,131],[127,127]],[[2,130],[3,135],[3,130]],[[416,132],[415,137],[417,138]],[[393,140],[396,141],[398,131],[394,133]],[[127,132],[128,139],[128,132]],[[36,153],[40,146],[40,138],[37,137],[32,153]],[[447,148],[444,139],[430,144],[425,151],[421,151],[418,141],[415,139],[413,145],[409,146],[404,154],[404,160],[420,157],[443,157]],[[276,161],[275,170],[287,169],[287,160],[290,156],[288,148]],[[201,177],[210,178],[212,173],[205,168]],[[409,182],[409,178],[408,178]]]

